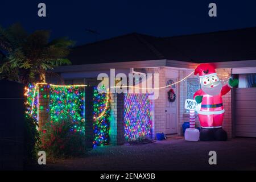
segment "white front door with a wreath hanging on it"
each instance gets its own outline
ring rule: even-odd
[[[175,78],[166,78],[166,85],[176,82]],[[176,99],[174,102],[168,100],[168,91],[174,89]],[[166,134],[177,134],[177,86],[172,85],[166,88]]]

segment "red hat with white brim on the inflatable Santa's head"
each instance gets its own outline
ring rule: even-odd
[[[214,66],[209,63],[199,64],[196,67],[194,74],[195,75],[199,74],[200,78],[217,75]]]

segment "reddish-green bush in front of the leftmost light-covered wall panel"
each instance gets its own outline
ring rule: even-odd
[[[40,131],[41,150],[50,158],[77,156],[85,153],[85,133],[74,131],[71,119],[48,122]]]

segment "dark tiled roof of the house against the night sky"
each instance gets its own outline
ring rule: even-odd
[[[256,27],[158,38],[127,34],[73,48],[73,64],[170,59],[194,63],[256,60]]]

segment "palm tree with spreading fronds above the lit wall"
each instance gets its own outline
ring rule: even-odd
[[[63,64],[74,43],[67,38],[49,42],[50,32],[38,30],[28,34],[20,24],[0,27],[0,50],[5,53],[0,60],[0,78],[28,82],[46,82],[46,73]]]

